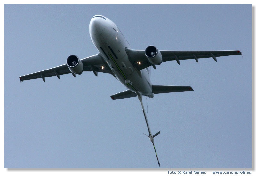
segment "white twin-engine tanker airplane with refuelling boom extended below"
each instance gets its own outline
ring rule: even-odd
[[[153,85],[150,81],[151,68],[156,69],[156,65],[166,61],[176,61],[180,65],[180,60],[186,59],[195,59],[198,62],[200,58],[213,58],[217,62],[216,57],[242,55],[239,50],[162,51],[152,45],[145,50],[132,49],[116,24],[103,15],[92,17],[89,24],[89,33],[92,43],[99,51],[96,55],[84,59],[79,59],[76,55],[70,55],[66,64],[20,76],[20,84],[25,80],[36,78],[42,78],[44,82],[45,77],[57,76],[60,79],[60,75],[68,73],[76,77],[77,74],[81,75],[84,71],[92,71],[95,76],[98,76],[98,72],[113,75],[128,90],[110,97],[113,100],[138,97],[148,128],[148,135],[145,135],[153,143],[159,167],[160,162],[156,153],[154,137],[160,134],[160,131],[152,135],[142,96],[153,98],[154,94],[158,93],[193,91],[193,89],[190,86]]]

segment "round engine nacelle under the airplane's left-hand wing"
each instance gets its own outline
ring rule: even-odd
[[[67,59],[67,65],[72,73],[81,75],[84,70],[82,61],[76,55],[70,55]]]

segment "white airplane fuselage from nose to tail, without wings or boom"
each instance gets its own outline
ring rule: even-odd
[[[138,71],[132,66],[125,51],[131,46],[116,24],[102,15],[95,15],[90,21],[89,32],[105,66],[112,70],[116,78],[132,92],[154,97],[150,81],[151,68]]]

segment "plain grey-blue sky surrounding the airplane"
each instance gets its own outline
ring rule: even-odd
[[[252,168],[252,5],[5,4],[4,168],[159,168],[138,98],[110,74],[19,76],[98,51],[101,14],[133,49],[240,50],[243,56],[164,62],[155,85],[194,91],[143,97],[161,168]]]

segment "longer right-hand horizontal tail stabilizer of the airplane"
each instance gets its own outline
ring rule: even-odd
[[[173,86],[173,85],[152,85],[152,90],[154,94],[194,91],[190,86]]]

